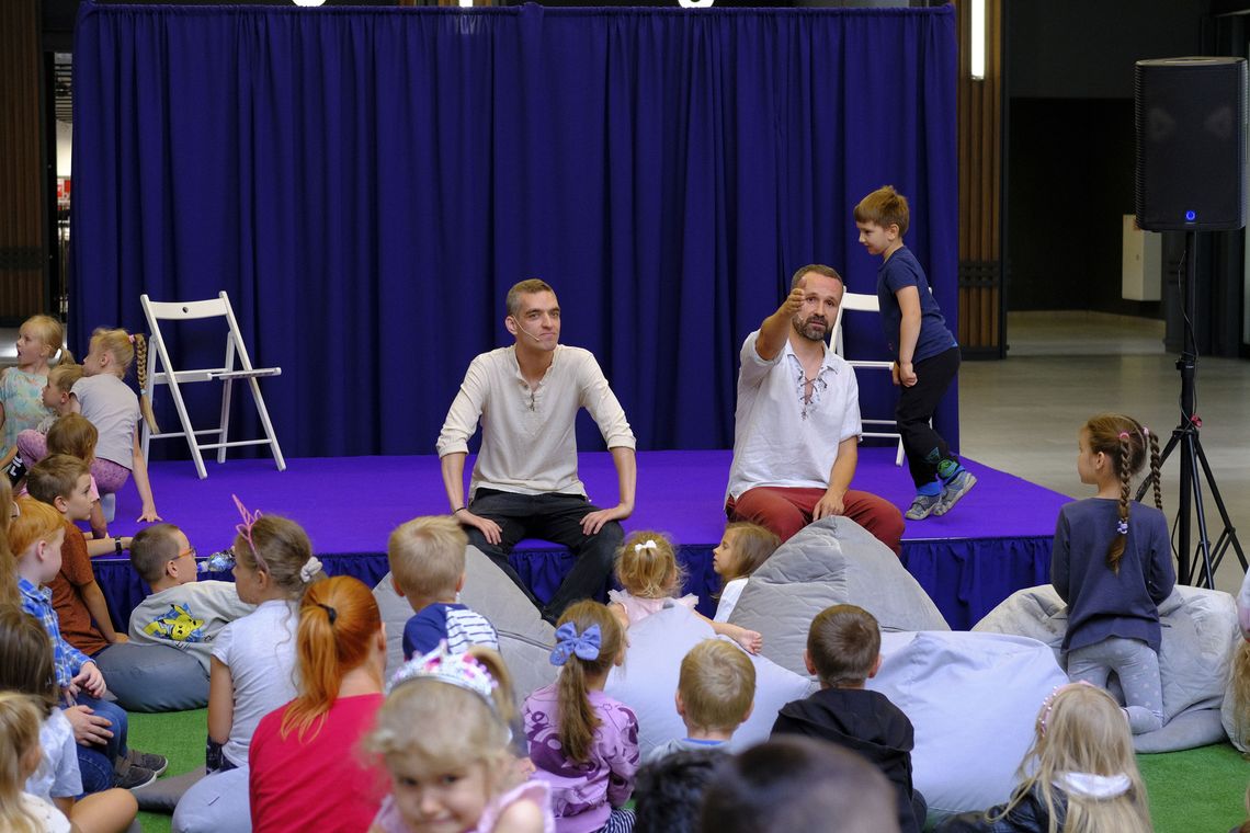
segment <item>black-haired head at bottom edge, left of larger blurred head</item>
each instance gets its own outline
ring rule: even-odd
[[[652,761],[634,782],[634,829],[639,833],[694,833],[699,804],[726,758],[721,749],[680,749]]]

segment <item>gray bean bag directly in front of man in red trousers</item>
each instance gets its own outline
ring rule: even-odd
[[[782,543],[746,582],[729,621],[762,633],[765,657],[806,674],[811,619],[844,603],[875,616],[882,631],[950,629],[898,556],[842,517],[816,521]]]

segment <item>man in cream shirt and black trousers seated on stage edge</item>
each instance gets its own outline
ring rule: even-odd
[[[540,280],[508,292],[504,326],[515,343],[481,353],[469,365],[439,435],[442,483],[451,513],[469,543],[485,552],[555,622],[564,608],[598,598],[624,540],[620,523],[634,511],[638,480],[634,432],[586,350],[560,345],[560,305]],[[586,408],[616,465],[620,500],[601,510],[578,478],[574,422]],[[481,422],[481,450],[464,500],[469,437]],[[518,541],[542,538],[568,547],[578,561],[544,606],[508,561]]]

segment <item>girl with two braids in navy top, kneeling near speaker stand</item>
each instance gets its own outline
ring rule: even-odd
[[[1134,734],[1152,732],[1164,723],[1159,603],[1176,583],[1159,440],[1131,417],[1101,413],[1081,428],[1079,448],[1076,472],[1098,493],[1060,510],[1050,561],[1050,582],[1068,602],[1068,676],[1105,688],[1114,672]],[[1148,457],[1154,507],[1129,501]]]

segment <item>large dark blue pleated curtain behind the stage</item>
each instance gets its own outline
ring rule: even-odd
[[[872,291],[851,217],[870,190],[910,197],[954,330],[955,55],[949,5],[85,0],[72,346],[142,330],[141,292],[224,288],[252,358],[284,368],[264,387],[289,456],[430,453],[469,360],[510,341],[506,288],[539,276],[640,448],[728,447],[739,347],[790,272]],[[875,325],[849,338],[884,353]],[[892,412],[888,380],[862,386],[865,413]]]

